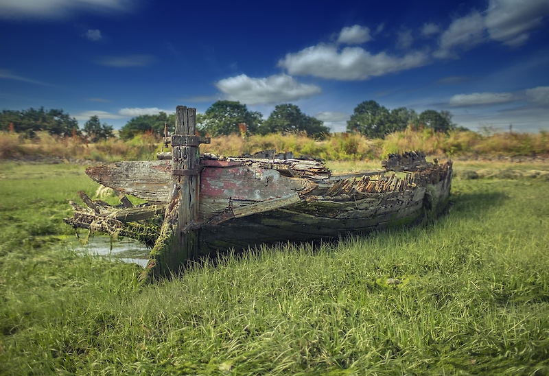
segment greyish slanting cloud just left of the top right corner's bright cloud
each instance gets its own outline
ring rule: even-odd
[[[484,17],[479,12],[455,19],[439,39],[436,58],[456,58],[455,49],[467,50],[484,42]]]

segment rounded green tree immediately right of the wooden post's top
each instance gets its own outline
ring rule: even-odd
[[[248,132],[255,133],[261,125],[262,117],[263,115],[257,111],[249,111],[246,104],[218,101],[204,114],[198,114],[196,123],[200,133],[211,136],[240,133],[239,123],[246,123]]]

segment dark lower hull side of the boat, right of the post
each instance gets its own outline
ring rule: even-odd
[[[449,180],[397,193],[371,193],[360,200],[299,202],[288,207],[233,218],[200,228],[200,254],[246,249],[259,244],[337,239],[418,222],[428,211],[441,211],[449,196]],[[426,207],[426,202],[429,202]],[[432,207],[435,206],[435,208]]]

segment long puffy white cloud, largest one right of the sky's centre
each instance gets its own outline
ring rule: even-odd
[[[316,45],[295,54],[286,54],[278,65],[288,69],[291,75],[351,81],[421,67],[428,62],[428,56],[421,52],[397,58],[385,52],[373,55],[360,47],[345,47],[338,51],[332,45]]]

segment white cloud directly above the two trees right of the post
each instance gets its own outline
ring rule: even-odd
[[[271,75],[267,78],[250,78],[245,74],[225,78],[215,86],[229,100],[245,104],[273,104],[290,102],[320,94],[315,85],[300,84],[290,75]]]

